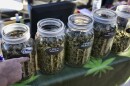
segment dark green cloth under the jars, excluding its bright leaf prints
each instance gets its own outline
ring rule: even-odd
[[[40,75],[31,86],[118,86],[125,82],[130,76],[130,50],[117,54],[109,54],[108,57],[116,57],[111,64],[114,70],[108,71],[101,78],[92,75],[85,77],[86,69],[71,68],[65,66],[64,69],[55,75]],[[107,58],[107,57],[106,57]]]

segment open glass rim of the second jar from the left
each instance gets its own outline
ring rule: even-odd
[[[44,37],[59,36],[64,33],[64,24],[55,18],[42,19],[37,23],[37,32]]]

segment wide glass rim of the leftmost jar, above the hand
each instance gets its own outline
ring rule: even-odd
[[[27,25],[14,23],[4,26],[1,31],[2,41],[7,44],[20,44],[30,38],[30,29]]]

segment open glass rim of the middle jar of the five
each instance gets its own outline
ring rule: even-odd
[[[68,26],[73,31],[86,31],[93,28],[93,19],[83,14],[72,14],[68,18]]]

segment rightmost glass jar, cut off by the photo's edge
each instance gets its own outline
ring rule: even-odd
[[[130,6],[119,5],[116,12],[118,29],[116,30],[112,52],[119,53],[127,51],[130,47]]]

